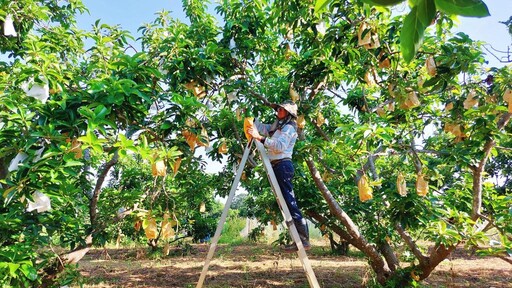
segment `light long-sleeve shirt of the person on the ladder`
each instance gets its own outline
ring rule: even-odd
[[[272,127],[271,124],[260,123],[256,119],[254,126],[258,129],[260,135],[267,137],[263,145],[267,148],[270,160],[292,158],[293,146],[298,136],[297,131],[292,125],[284,125],[281,130],[276,130],[272,136],[269,134]]]

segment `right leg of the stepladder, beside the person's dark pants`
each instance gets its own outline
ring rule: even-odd
[[[302,263],[302,267],[304,268],[306,277],[308,278],[309,286],[314,288],[320,288],[318,280],[316,279],[315,272],[313,271],[311,263],[309,262],[308,255],[306,254],[304,246],[302,245],[302,241],[300,239],[299,232],[297,231],[297,227],[295,227],[295,222],[292,219],[290,210],[288,209],[283,194],[281,193],[281,188],[279,188],[279,184],[277,183],[277,178],[274,173],[274,170],[272,169],[272,165],[270,164],[270,160],[268,159],[265,147],[263,147],[263,144],[259,143],[258,141],[255,142],[256,147],[258,148],[261,158],[263,160],[263,167],[265,167],[265,170],[267,172],[267,176],[270,181],[270,186],[272,187],[272,190],[276,195],[279,207],[281,207],[281,213],[283,213],[285,223],[289,228],[288,231],[290,232],[290,236],[292,236],[293,241],[297,245],[297,254],[299,255],[300,262]]]

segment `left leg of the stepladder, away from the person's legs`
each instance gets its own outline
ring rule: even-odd
[[[210,266],[210,261],[213,258],[213,254],[215,253],[215,249],[217,248],[217,243],[219,242],[220,233],[222,232],[222,228],[224,228],[224,223],[226,222],[226,218],[228,216],[229,207],[231,206],[231,202],[233,202],[233,198],[235,197],[236,189],[238,188],[238,183],[240,183],[240,178],[242,177],[242,172],[244,171],[245,163],[249,158],[249,152],[251,151],[251,144],[253,141],[249,141],[247,143],[247,147],[245,147],[244,154],[242,156],[242,161],[238,166],[238,170],[236,172],[235,180],[231,185],[231,190],[229,192],[228,199],[226,200],[226,204],[224,206],[224,211],[222,211],[222,215],[219,220],[219,224],[217,224],[217,229],[215,230],[215,235],[213,236],[212,243],[210,244],[210,250],[208,251],[208,255],[206,256],[206,261],[203,266],[203,270],[201,271],[201,276],[199,277],[199,281],[197,282],[196,288],[203,287],[204,280],[206,278],[206,273],[208,272],[208,267]]]

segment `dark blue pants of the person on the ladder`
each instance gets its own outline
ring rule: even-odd
[[[295,222],[299,235],[301,235],[301,239],[309,239],[306,220],[302,217],[302,213],[297,205],[297,200],[295,199],[295,193],[293,193],[292,179],[295,169],[293,168],[292,161],[283,160],[273,165],[272,168],[276,174],[277,183],[279,183],[279,188],[281,188],[288,210],[290,210],[290,214],[292,215],[293,222]]]

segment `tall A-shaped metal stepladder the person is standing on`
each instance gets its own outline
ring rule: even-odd
[[[208,254],[206,256],[206,260],[205,260],[203,269],[201,271],[201,276],[199,277],[199,281],[197,282],[196,288],[203,287],[204,281],[206,279],[206,274],[208,273],[208,267],[213,258],[213,255],[215,253],[215,249],[217,248],[220,234],[222,233],[222,229],[224,228],[224,223],[226,222],[229,208],[230,208],[233,198],[235,196],[235,192],[238,188],[238,184],[240,183],[240,179],[241,179],[242,173],[244,171],[245,165],[247,163],[247,159],[249,158],[253,144],[256,146],[256,149],[258,150],[258,152],[261,156],[261,160],[263,161],[263,167],[265,169],[268,180],[270,182],[272,191],[274,192],[276,200],[281,209],[281,213],[283,215],[284,222],[286,223],[286,226],[288,227],[288,232],[289,232],[292,240],[295,242],[295,245],[297,245],[297,255],[302,264],[302,267],[304,268],[304,272],[305,272],[307,280],[309,282],[309,286],[315,287],[315,288],[320,287],[320,285],[318,284],[318,281],[316,279],[315,273],[313,271],[313,268],[311,267],[311,262],[309,261],[309,258],[306,254],[304,246],[302,245],[302,241],[300,240],[299,232],[297,231],[297,228],[295,227],[295,223],[292,219],[290,210],[288,209],[286,201],[283,197],[283,194],[282,194],[279,184],[277,182],[276,175],[274,173],[274,170],[272,169],[272,165],[271,165],[270,160],[265,151],[265,147],[263,147],[263,144],[261,144],[259,141],[251,140],[251,141],[249,141],[249,143],[247,143],[247,146],[245,147],[244,153],[242,155],[242,160],[240,161],[240,164],[237,168],[235,179],[233,181],[233,184],[231,185],[231,190],[230,190],[228,198],[226,200],[224,210],[222,211],[219,223],[217,225],[217,229],[215,230],[215,234],[211,240],[210,248],[208,250]]]

